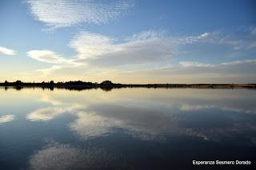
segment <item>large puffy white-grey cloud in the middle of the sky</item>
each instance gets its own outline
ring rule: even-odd
[[[143,65],[171,59],[171,42],[154,31],[117,40],[82,32],[70,42],[78,52],[77,62],[92,66]]]

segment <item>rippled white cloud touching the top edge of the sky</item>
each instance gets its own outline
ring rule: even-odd
[[[122,16],[133,0],[27,0],[30,12],[40,22],[53,28],[82,22],[102,24]]]

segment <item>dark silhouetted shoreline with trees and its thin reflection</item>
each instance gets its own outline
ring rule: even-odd
[[[102,81],[102,83],[93,83],[85,81],[66,81],[66,82],[57,82],[54,81],[42,81],[38,82],[22,82],[14,81],[8,82],[5,81],[0,83],[0,86],[5,87],[14,87],[15,89],[22,89],[24,87],[34,88],[41,87],[42,89],[103,89],[105,91],[110,91],[111,89],[119,88],[195,88],[195,89],[256,89],[256,84],[120,84],[113,83],[111,81]]]

